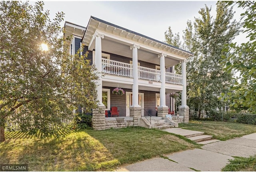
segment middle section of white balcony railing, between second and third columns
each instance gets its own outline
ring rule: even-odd
[[[161,81],[161,71],[138,66],[138,77],[145,80]]]

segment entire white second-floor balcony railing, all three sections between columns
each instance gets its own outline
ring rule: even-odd
[[[133,65],[109,59],[102,59],[102,72],[118,76],[133,77]],[[165,72],[166,83],[182,85],[182,75]],[[138,78],[161,82],[161,70],[138,66]]]

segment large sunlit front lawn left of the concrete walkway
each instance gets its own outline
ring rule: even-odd
[[[195,147],[167,132],[140,127],[80,130],[62,138],[7,132],[0,156],[2,164],[28,164],[30,171],[95,171]]]

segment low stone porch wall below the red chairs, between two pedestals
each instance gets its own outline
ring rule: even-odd
[[[117,118],[105,118],[106,119],[106,129],[108,128],[124,128],[128,126],[133,126],[132,117],[117,117]]]

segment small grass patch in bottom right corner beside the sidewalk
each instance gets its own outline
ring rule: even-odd
[[[234,157],[222,171],[256,171],[256,155],[250,158]]]

